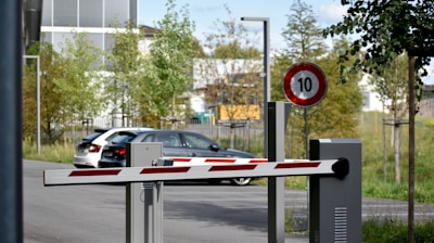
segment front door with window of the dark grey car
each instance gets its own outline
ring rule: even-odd
[[[186,132],[182,139],[190,157],[227,157],[216,142],[202,135]]]

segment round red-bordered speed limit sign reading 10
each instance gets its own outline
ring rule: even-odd
[[[292,65],[283,76],[283,93],[293,104],[309,107],[318,104],[327,93],[324,72],[314,63]]]

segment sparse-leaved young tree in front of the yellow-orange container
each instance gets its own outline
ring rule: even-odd
[[[254,106],[259,106],[260,52],[253,43],[245,27],[231,17],[216,20],[216,33],[206,34],[205,50],[208,57],[196,60],[205,99],[217,107],[217,116],[230,129],[230,148],[234,148],[234,128],[245,126]]]

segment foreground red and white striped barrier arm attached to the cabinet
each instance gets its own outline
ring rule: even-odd
[[[341,166],[341,164],[343,164],[343,166]],[[337,170],[342,170],[342,167],[344,167],[343,170],[345,170],[345,167],[347,168],[347,161],[345,159],[342,162],[341,158],[324,161],[291,161],[282,163],[252,162],[244,164],[219,164],[218,161],[214,161],[213,165],[187,164],[184,166],[174,162],[174,166],[44,170],[43,183],[44,186],[61,186],[184,179],[327,175],[336,174]]]

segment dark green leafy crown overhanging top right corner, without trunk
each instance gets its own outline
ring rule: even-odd
[[[434,2],[432,1],[384,1],[357,0],[342,1],[348,5],[347,15],[341,23],[324,29],[324,36],[357,34],[350,49],[341,55],[340,63],[349,55],[361,55],[350,66],[342,66],[341,81],[346,81],[346,74],[363,71],[382,74],[396,56],[406,50],[414,51],[434,44],[433,21]],[[420,49],[419,49],[420,50]],[[360,52],[362,51],[362,53]],[[424,69],[430,56],[416,61],[416,69]]]

